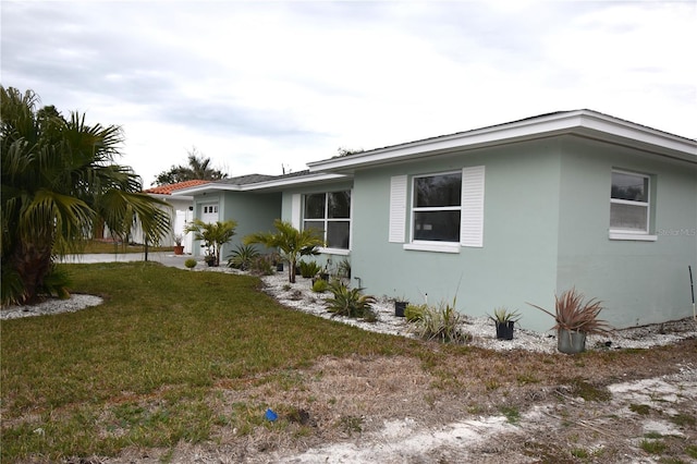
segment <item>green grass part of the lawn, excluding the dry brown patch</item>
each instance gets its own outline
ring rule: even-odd
[[[219,420],[218,382],[241,388],[323,355],[417,346],[283,308],[253,277],[65,266],[76,292],[106,303],[2,322],[3,463],[200,442]]]

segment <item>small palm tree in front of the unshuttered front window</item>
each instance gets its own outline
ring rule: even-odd
[[[244,239],[246,245],[259,243],[269,248],[278,248],[289,264],[289,281],[295,283],[295,266],[301,256],[318,255],[318,247],[325,245],[321,231],[305,229],[298,231],[290,222],[277,219],[273,227],[278,232],[257,232]]]

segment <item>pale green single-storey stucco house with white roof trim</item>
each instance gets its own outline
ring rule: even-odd
[[[322,260],[348,259],[374,295],[452,303],[481,316],[553,320],[575,286],[624,328],[692,315],[697,274],[697,142],[589,110],[308,163],[181,191],[216,205],[240,236],[280,217],[319,228]],[[175,194],[176,195],[176,194]],[[248,224],[248,227],[247,227]]]

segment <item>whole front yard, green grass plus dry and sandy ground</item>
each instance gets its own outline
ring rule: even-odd
[[[694,339],[578,356],[496,352],[290,310],[253,277],[151,262],[68,268],[75,293],[105,304],[2,322],[3,463],[303,452],[311,462],[313,450],[359,455],[370,443],[382,462],[376,450],[391,443],[392,462],[697,459],[695,391],[678,384],[687,376],[694,387]],[[615,396],[626,389],[613,384],[660,376],[677,386],[670,394]],[[452,424],[479,439],[456,429],[454,441],[432,441]],[[403,454],[429,437],[430,448]]]

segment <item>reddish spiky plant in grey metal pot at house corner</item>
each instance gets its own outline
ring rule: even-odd
[[[554,295],[553,314],[528,304],[554,318],[557,323],[552,329],[557,329],[557,349],[562,353],[580,353],[586,350],[587,335],[607,335],[614,331],[612,326],[598,318],[603,309],[602,302],[596,298],[584,302],[584,295],[576,292],[576,289]]]

